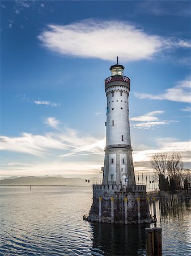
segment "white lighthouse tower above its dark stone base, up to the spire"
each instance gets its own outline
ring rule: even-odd
[[[124,66],[112,65],[111,76],[105,79],[107,126],[103,184],[135,185],[129,127],[130,79]]]

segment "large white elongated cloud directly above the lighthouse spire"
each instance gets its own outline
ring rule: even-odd
[[[65,26],[50,24],[38,38],[45,47],[61,55],[103,60],[113,60],[116,56],[125,61],[146,60],[164,49],[187,47],[183,40],[180,44],[162,36],[150,35],[117,20],[86,19]]]

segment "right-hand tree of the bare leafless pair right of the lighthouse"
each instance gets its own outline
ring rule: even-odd
[[[182,176],[182,162],[180,153],[171,152],[168,154],[167,170],[168,176],[175,181],[177,189]]]

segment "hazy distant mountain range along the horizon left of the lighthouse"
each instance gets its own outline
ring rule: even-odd
[[[100,178],[92,177],[89,179],[82,178],[66,178],[60,175],[56,177],[50,176],[22,176],[22,177],[6,177],[0,180],[0,185],[28,185],[28,186],[91,186],[92,183],[100,183]]]

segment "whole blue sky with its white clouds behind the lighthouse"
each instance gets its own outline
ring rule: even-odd
[[[116,56],[135,174],[190,168],[190,1],[1,1],[1,176],[101,177]]]

